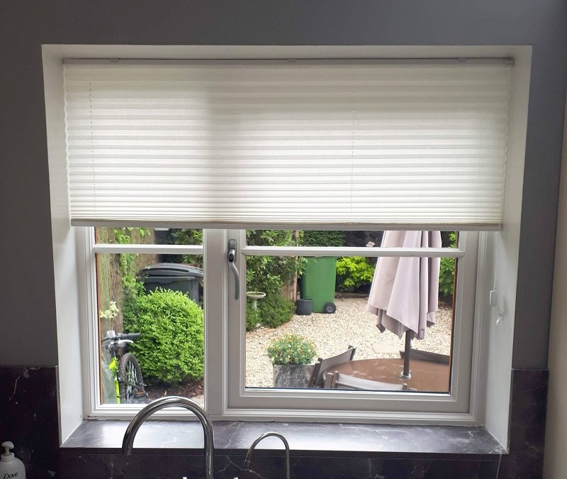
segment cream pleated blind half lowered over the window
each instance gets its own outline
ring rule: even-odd
[[[75,225],[498,229],[508,62],[68,62]]]

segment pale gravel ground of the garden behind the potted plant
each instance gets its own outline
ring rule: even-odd
[[[259,328],[246,334],[247,387],[273,387],[272,368],[266,354],[272,339],[283,334],[297,333],[315,343],[318,356],[328,358],[342,353],[347,346],[356,346],[355,359],[399,357],[404,337],[376,328],[376,316],[366,311],[366,299],[337,299],[335,314],[313,313],[293,316],[279,328]],[[439,304],[437,323],[427,329],[425,339],[412,341],[412,348],[433,353],[451,351],[452,310]],[[316,358],[315,358],[316,359]]]

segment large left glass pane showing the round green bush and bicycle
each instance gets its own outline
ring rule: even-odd
[[[96,255],[102,404],[204,403],[203,269],[187,259]]]

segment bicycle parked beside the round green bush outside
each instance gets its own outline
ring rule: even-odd
[[[118,404],[147,402],[146,385],[140,364],[133,353],[123,353],[128,344],[132,344],[140,336],[140,333],[116,334],[114,331],[106,331],[106,337],[101,341],[103,351],[110,358],[105,360],[103,354],[103,365],[106,365],[113,375]]]

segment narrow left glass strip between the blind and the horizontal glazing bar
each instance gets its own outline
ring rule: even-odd
[[[179,228],[95,228],[99,244],[202,245],[203,230]]]

